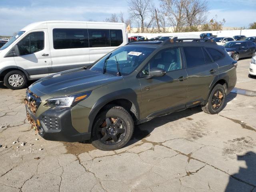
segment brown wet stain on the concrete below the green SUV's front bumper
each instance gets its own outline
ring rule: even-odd
[[[64,144],[64,146],[66,147],[66,154],[73,154],[73,155],[77,155],[77,154],[82,154],[85,152],[89,152],[92,151],[94,149],[96,149],[92,144],[90,144],[90,142],[74,142],[74,143],[70,143],[70,142],[62,142]]]

